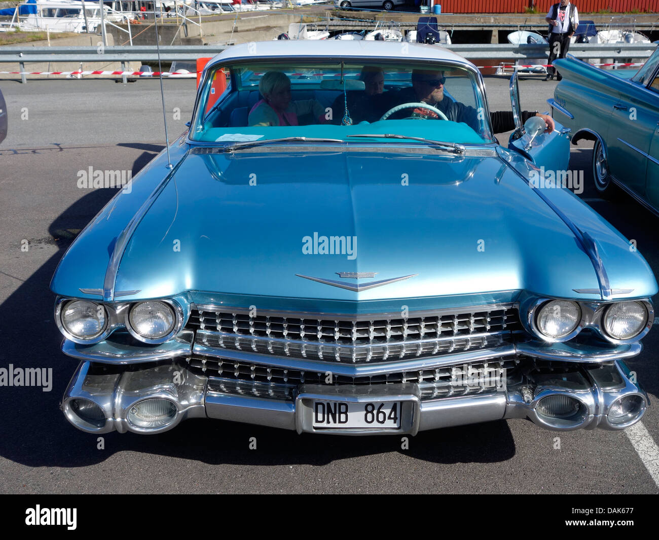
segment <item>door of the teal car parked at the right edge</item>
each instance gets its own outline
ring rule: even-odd
[[[607,136],[609,171],[640,196],[646,192],[648,153],[657,121],[659,94],[633,81],[621,81]]]

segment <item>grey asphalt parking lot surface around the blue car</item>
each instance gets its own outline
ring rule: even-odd
[[[555,85],[522,80],[523,108],[546,110]],[[486,87],[490,109],[509,110],[507,78],[488,76]],[[136,173],[163,148],[159,84],[5,80],[0,90],[9,111],[9,136],[0,143],[0,367],[53,370],[49,392],[0,387],[1,493],[659,493],[658,329],[629,361],[654,406],[624,432],[557,434],[509,420],[423,432],[404,450],[400,436],[297,435],[190,420],[161,435],[109,433],[99,448],[97,436],[59,411],[77,363],[59,349],[49,281],[114,193],[79,189],[77,171]],[[194,80],[165,80],[170,140],[190,119],[194,91]],[[625,195],[598,197],[591,148],[581,142],[571,150],[571,169],[584,171],[579,196],[635,239],[659,275],[659,219]]]

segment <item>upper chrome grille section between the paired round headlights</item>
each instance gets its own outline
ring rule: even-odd
[[[512,305],[398,315],[328,316],[219,311],[197,306],[197,344],[264,355],[345,363],[396,361],[486,349],[521,332]]]

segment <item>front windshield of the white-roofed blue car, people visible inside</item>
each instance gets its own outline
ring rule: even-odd
[[[200,142],[292,136],[363,142],[355,138],[360,134],[493,140],[476,74],[442,63],[304,59],[215,68],[202,82],[192,126],[190,139]]]

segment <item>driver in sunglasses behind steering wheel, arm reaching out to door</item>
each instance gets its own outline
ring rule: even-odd
[[[474,107],[469,107],[460,102],[444,99],[444,83],[446,77],[444,71],[426,71],[415,69],[412,71],[412,86],[403,88],[398,92],[391,94],[391,107],[404,103],[427,103],[436,109],[440,109],[447,119],[454,122],[464,122],[474,131],[479,131],[478,111]],[[388,94],[388,92],[387,92]],[[389,108],[391,108],[389,107]],[[392,117],[405,115],[406,117],[412,116],[423,119],[439,119],[440,116],[423,107],[416,107],[410,115],[409,109],[395,113]],[[551,133],[554,131],[554,120],[552,117],[540,114],[537,111],[523,111],[522,122],[527,121],[532,116],[541,117],[546,124],[546,131]],[[492,120],[492,129],[494,133],[503,133],[515,129],[515,119],[513,118],[513,111],[498,111],[490,114]]]

